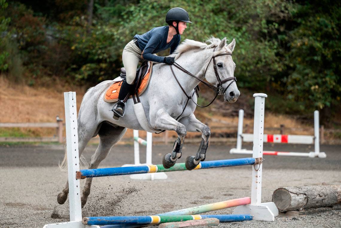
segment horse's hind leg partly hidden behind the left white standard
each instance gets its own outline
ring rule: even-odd
[[[90,139],[94,136],[97,135],[97,131],[100,126],[96,125],[92,125],[91,127],[89,127],[90,124],[81,124],[80,121],[78,121],[78,154],[79,157],[81,156],[81,154],[83,153],[86,145],[88,144],[88,142],[90,141]],[[66,159],[66,148],[65,148],[65,158]],[[68,198],[68,194],[69,194],[69,181],[66,181],[66,184],[63,188],[63,190],[61,191],[61,193],[58,194],[57,196],[57,202],[59,204],[64,204],[66,199]]]

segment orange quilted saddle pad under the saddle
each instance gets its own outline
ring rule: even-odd
[[[143,94],[143,92],[145,92],[147,85],[149,83],[149,79],[151,76],[151,70],[152,70],[152,62],[148,62],[148,69],[147,72],[145,74],[145,76],[142,78],[141,83],[137,89],[138,92],[138,96],[140,96],[141,94]],[[104,101],[105,102],[116,102],[118,101],[118,94],[120,93],[120,89],[121,89],[121,85],[122,83],[120,83],[121,81],[117,81],[114,82],[112,85],[110,85],[110,87],[107,89],[107,91],[104,94]],[[129,98],[132,98],[133,96],[130,95]],[[128,98],[128,99],[129,99]]]

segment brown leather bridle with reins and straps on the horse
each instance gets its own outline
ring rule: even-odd
[[[216,47],[213,49],[213,52],[214,52],[215,50],[216,50]],[[207,83],[207,82],[205,82],[204,80],[202,80],[202,79],[196,77],[195,75],[191,74],[189,71],[187,71],[186,69],[184,69],[182,66],[180,66],[180,65],[177,64],[176,62],[174,62],[174,64],[173,64],[173,65],[174,65],[176,68],[178,68],[179,70],[185,72],[186,74],[192,76],[193,78],[196,78],[197,80],[201,81],[203,84],[205,84],[206,86],[208,86],[210,89],[212,89],[214,92],[216,92],[216,96],[213,98],[213,100],[212,100],[209,104],[207,104],[207,105],[205,105],[205,106],[201,106],[201,105],[195,103],[195,102],[193,101],[193,99],[192,99],[193,95],[194,95],[195,93],[197,93],[197,91],[199,90],[199,89],[198,89],[198,86],[195,87],[195,91],[194,91],[194,93],[192,94],[192,96],[189,96],[189,95],[186,93],[186,91],[184,90],[184,88],[181,86],[181,84],[180,84],[179,80],[177,79],[177,77],[175,76],[174,71],[173,71],[173,68],[172,68],[172,65],[169,65],[169,66],[170,66],[170,70],[172,70],[172,73],[173,73],[173,76],[174,76],[176,82],[177,82],[178,85],[180,86],[182,92],[183,92],[183,93],[186,95],[186,97],[187,97],[186,105],[185,105],[185,107],[183,108],[182,113],[176,118],[176,120],[178,120],[179,117],[180,117],[180,116],[183,114],[183,112],[185,111],[185,109],[186,109],[186,107],[187,107],[187,104],[188,104],[189,100],[192,99],[193,103],[194,103],[196,106],[198,106],[198,107],[202,107],[202,108],[208,107],[210,104],[213,103],[213,101],[217,98],[218,95],[224,94],[224,93],[226,92],[227,88],[228,88],[233,82],[237,81],[236,77],[229,77],[229,78],[226,78],[226,79],[224,79],[224,80],[221,80],[221,78],[220,78],[220,76],[219,76],[219,73],[218,73],[218,69],[217,69],[217,64],[216,64],[216,59],[215,59],[215,58],[218,57],[218,56],[222,56],[222,55],[232,55],[232,53],[220,53],[220,54],[217,54],[217,55],[212,55],[212,57],[211,57],[209,63],[207,64],[207,67],[206,67],[206,69],[205,69],[205,72],[204,72],[204,78],[206,78],[206,71],[207,71],[208,66],[210,65],[211,61],[213,60],[214,74],[216,75],[217,80],[218,80],[218,85],[217,85],[217,86],[214,86],[214,85],[212,85],[212,84],[210,84],[210,83]],[[232,81],[232,82],[230,82],[230,83],[226,86],[226,88],[224,89],[223,83],[225,83],[225,82],[227,82],[227,81]],[[223,89],[224,89],[224,90],[223,90]]]

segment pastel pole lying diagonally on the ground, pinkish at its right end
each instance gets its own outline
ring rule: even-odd
[[[250,203],[251,203],[250,197],[243,197],[243,198],[230,199],[226,201],[210,203],[210,204],[186,208],[186,209],[180,209],[176,211],[170,211],[170,212],[157,214],[157,215],[194,215],[194,214],[206,213],[209,211],[216,211],[216,210],[221,210],[225,208],[247,205]],[[101,228],[135,228],[135,227],[140,227],[140,225],[107,225],[107,226],[102,226]]]

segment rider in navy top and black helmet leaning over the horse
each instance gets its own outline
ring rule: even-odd
[[[118,102],[113,107],[114,119],[122,117],[125,102],[123,101],[133,89],[137,65],[142,60],[166,63],[172,65],[174,57],[157,56],[155,53],[170,48],[172,54],[180,43],[181,35],[190,21],[186,10],[176,7],[170,9],[166,15],[166,23],[169,26],[156,27],[143,35],[136,34],[123,49],[122,61],[126,71],[126,77],[120,88]]]

